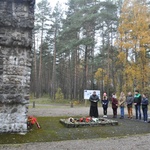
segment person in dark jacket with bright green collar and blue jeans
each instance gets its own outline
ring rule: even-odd
[[[134,106],[136,119],[141,120],[141,94],[138,90],[135,91],[134,95]]]

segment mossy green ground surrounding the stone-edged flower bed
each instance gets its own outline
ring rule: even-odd
[[[0,134],[0,144],[52,142],[63,140],[111,138],[150,133],[150,124],[139,120],[116,119],[118,126],[66,128],[60,119],[67,117],[38,117],[41,129],[33,127],[26,135]],[[110,116],[109,116],[110,118]]]

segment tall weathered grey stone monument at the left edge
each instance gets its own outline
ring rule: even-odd
[[[26,133],[35,0],[0,0],[0,132]]]

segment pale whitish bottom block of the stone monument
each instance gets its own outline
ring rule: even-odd
[[[0,105],[0,131],[26,132],[27,109],[24,105]],[[18,115],[19,114],[19,115]]]

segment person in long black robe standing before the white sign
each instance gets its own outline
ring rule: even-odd
[[[94,91],[93,94],[90,96],[89,101],[91,102],[90,105],[90,117],[98,118],[98,101],[99,97],[96,95],[96,92]]]

